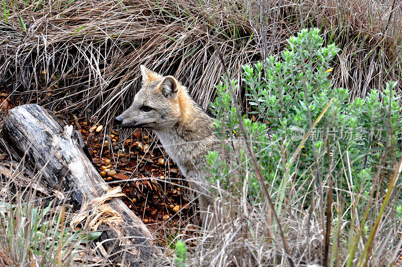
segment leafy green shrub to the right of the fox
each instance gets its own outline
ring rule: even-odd
[[[401,156],[402,116],[394,91],[396,83],[389,82],[382,92],[373,89],[366,98],[351,101],[347,89],[332,86],[330,62],[339,49],[332,44],[324,46],[318,29],[302,30],[287,44],[280,58],[270,56],[264,63],[243,67],[252,107],[243,121],[258,167],[273,187],[271,191],[279,194],[277,212],[285,196],[292,203],[306,195],[303,204],[307,207],[309,192],[322,188],[324,182],[328,185],[329,180],[336,188],[367,196],[380,158],[388,165],[381,173],[386,176]],[[236,87],[237,81],[231,83]],[[217,132],[226,139],[239,138],[239,121],[227,81],[217,86],[217,95],[211,103]],[[311,129],[327,105],[323,117]],[[303,140],[309,130],[310,136]],[[301,142],[300,153],[295,153]],[[229,143],[227,149],[232,150]],[[207,159],[212,182],[226,189],[242,188],[243,181],[228,178],[228,173],[237,164],[245,166],[246,158],[239,156],[239,163],[228,164],[216,152],[210,152]],[[260,203],[260,185],[252,168],[248,174],[249,200]],[[314,182],[306,182],[309,179]],[[383,180],[379,188],[385,190],[386,182]],[[351,195],[344,196],[348,204],[353,202]],[[363,203],[360,201],[360,206]]]

